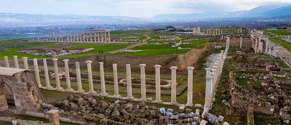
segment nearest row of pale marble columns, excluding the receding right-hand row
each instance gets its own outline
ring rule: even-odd
[[[4,57],[7,58],[7,57]],[[27,64],[27,57],[22,58],[25,69],[28,69]],[[17,61],[17,56],[14,59]],[[44,74],[45,74],[45,82],[46,82],[46,89],[55,89],[55,90],[63,90],[63,88],[60,86],[59,81],[59,71],[58,71],[58,59],[54,58],[52,59],[54,63],[54,73],[55,73],[55,81],[56,81],[56,88],[53,88],[50,85],[49,82],[49,76],[48,76],[48,67],[46,59],[43,59],[43,67],[44,67]],[[72,92],[74,91],[73,88],[71,88],[70,84],[70,76],[69,76],[69,66],[68,66],[68,59],[64,59],[64,65],[65,65],[65,76],[66,76],[66,85],[67,89],[65,91]],[[8,59],[5,59],[5,65],[7,65]],[[91,63],[92,61],[86,61],[87,63],[87,69],[88,69],[88,79],[89,79],[89,93],[90,94],[96,94],[93,88],[93,78],[92,78],[92,69],[91,69]],[[15,64],[18,65],[18,62],[15,62]],[[35,78],[37,81],[37,84],[39,87],[43,87],[40,84],[40,77],[39,77],[39,71],[38,71],[38,62],[37,59],[33,59],[34,64],[34,72],[35,72]],[[107,96],[105,90],[105,79],[104,79],[104,69],[103,69],[103,62],[100,62],[100,79],[101,79],[101,96]],[[9,64],[8,64],[9,65]],[[76,66],[76,75],[77,75],[77,84],[78,84],[78,90],[77,93],[84,93],[85,91],[82,89],[82,83],[81,83],[81,75],[80,75],[80,67],[79,62],[75,62]],[[146,85],[145,85],[145,64],[140,64],[140,82],[141,82],[141,98],[140,101],[147,101],[146,98]],[[160,65],[155,65],[154,68],[156,69],[156,103],[161,103],[161,79],[160,79]],[[177,67],[171,67],[171,104],[176,105],[178,104],[176,101],[176,69]],[[193,67],[188,67],[188,97],[187,97],[187,106],[193,106],[192,103],[192,94],[193,94]],[[118,76],[117,76],[117,65],[113,64],[113,76],[114,76],[114,96],[115,98],[120,98],[118,91]],[[130,64],[126,64],[126,83],[127,83],[127,99],[133,99],[132,96],[132,88],[131,88],[131,70],[130,70]]]

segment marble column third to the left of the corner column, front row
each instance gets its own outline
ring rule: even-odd
[[[161,78],[160,78],[160,68],[161,65],[155,65],[156,68],[156,101],[155,103],[161,103]]]

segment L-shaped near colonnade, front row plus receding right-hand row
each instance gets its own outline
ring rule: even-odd
[[[214,66],[212,68],[206,68],[206,96],[205,96],[205,105],[204,107],[211,107],[212,102],[215,97],[215,91],[216,91],[216,85],[220,78],[220,73],[222,72],[223,67],[223,51],[219,53],[219,57],[214,63]],[[28,63],[27,63],[27,57],[23,57],[23,64],[24,68],[28,69]],[[43,67],[44,67],[44,76],[45,76],[45,82],[46,86],[43,87],[40,84],[40,77],[38,73],[38,60],[36,58],[33,59],[33,65],[34,65],[34,72],[35,72],[35,78],[37,81],[37,85],[40,88],[49,89],[49,90],[59,90],[59,91],[66,91],[66,92],[76,92],[76,93],[85,93],[85,91],[82,89],[82,82],[81,82],[81,74],[80,74],[80,66],[79,62],[75,62],[75,68],[76,68],[76,76],[77,76],[77,85],[78,90],[75,91],[73,88],[71,88],[70,83],[70,76],[69,76],[69,66],[68,62],[69,59],[62,60],[65,65],[65,77],[66,77],[66,90],[64,90],[63,87],[60,86],[60,80],[59,80],[59,71],[58,71],[58,59],[53,58],[52,61],[54,63],[54,73],[55,73],[55,82],[56,82],[56,88],[53,88],[50,85],[49,81],[49,75],[48,75],[48,67],[46,59],[43,59]],[[8,57],[4,57],[4,65],[5,67],[9,67]],[[18,59],[17,56],[14,56],[14,63],[15,68],[18,67]],[[101,79],[101,93],[97,94],[94,91],[93,86],[93,77],[92,77],[92,68],[91,63],[92,61],[86,61],[87,63],[87,69],[88,69],[88,79],[89,79],[89,94],[92,95],[100,95],[100,96],[110,96],[108,93],[106,93],[105,90],[105,79],[104,79],[104,69],[103,69],[103,62],[100,62],[100,79]],[[145,64],[140,64],[140,83],[141,83],[141,98],[138,99],[138,101],[149,101],[148,98],[146,98],[146,85],[145,85]],[[156,70],[156,100],[155,103],[162,103],[161,100],[161,78],[160,78],[160,65],[155,65],[153,68]],[[170,68],[171,70],[171,102],[169,104],[172,105],[178,105],[176,101],[176,69],[177,67],[173,66]],[[193,106],[193,67],[188,67],[188,83],[187,83],[187,103],[186,106]],[[117,76],[117,65],[113,64],[113,75],[114,75],[114,95],[110,96],[113,98],[123,98],[119,94],[119,88],[118,88],[118,76]],[[126,64],[126,84],[127,84],[127,97],[126,99],[134,99],[132,96],[132,88],[131,88],[131,70],[130,70],[130,64]]]

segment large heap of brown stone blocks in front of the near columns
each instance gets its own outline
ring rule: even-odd
[[[69,95],[67,100],[59,101],[59,117],[79,124],[102,125],[206,125],[223,124],[223,116],[216,117],[210,113],[200,115],[200,109],[195,113],[192,109],[181,106],[179,112],[173,109],[147,106],[145,102],[134,104],[131,100],[116,100],[106,102],[103,97],[94,99],[90,94],[83,98],[80,95]],[[43,113],[46,114],[52,105],[43,104]],[[225,124],[228,124],[225,122]]]

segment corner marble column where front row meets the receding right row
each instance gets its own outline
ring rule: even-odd
[[[212,83],[212,76],[210,75],[210,68],[206,68],[206,90],[205,90],[205,108],[211,107],[212,98],[211,98],[211,83]]]

